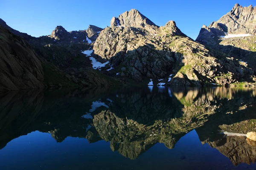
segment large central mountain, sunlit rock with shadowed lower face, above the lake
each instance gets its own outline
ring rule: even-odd
[[[183,34],[174,21],[159,27],[134,9],[113,17],[93,50],[97,60],[110,62],[108,75],[135,82],[151,79],[154,85],[230,86],[241,79],[255,81],[246,63],[218,59]]]

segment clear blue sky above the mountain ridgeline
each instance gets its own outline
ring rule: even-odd
[[[39,37],[59,25],[67,31],[88,25],[105,28],[112,17],[135,8],[158,26],[174,20],[195,39],[203,24],[218,20],[236,3],[256,6],[256,0],[0,0],[0,18],[20,32]]]

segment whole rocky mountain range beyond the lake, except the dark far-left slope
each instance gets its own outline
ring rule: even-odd
[[[235,21],[229,22],[230,17]],[[256,57],[251,57],[256,52],[256,36],[227,37],[255,34],[254,23],[255,8],[236,5],[218,22],[204,26],[196,42],[183,34],[175,21],[157,26],[136,9],[113,17],[111,26],[104,29],[90,25],[87,30],[67,31],[57,26],[50,35],[41,37],[21,33],[0,20],[3,29],[30,45],[29,49],[41,62],[46,87],[120,84],[252,87],[256,85]],[[11,54],[12,48],[3,45]],[[26,52],[20,55],[23,54]],[[248,62],[249,59],[252,61]],[[41,68],[36,69],[41,73]],[[7,73],[11,74],[9,70]]]

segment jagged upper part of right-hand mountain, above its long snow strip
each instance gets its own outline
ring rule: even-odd
[[[196,41],[215,44],[214,39],[228,34],[256,35],[256,7],[243,7],[236,3],[230,12],[208,27],[203,26]]]

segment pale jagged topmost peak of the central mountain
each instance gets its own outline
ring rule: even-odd
[[[156,26],[151,20],[145,17],[137,9],[131,9],[130,11],[125,11],[119,17],[113,17],[110,23],[112,26],[124,26],[124,27],[145,27]]]

